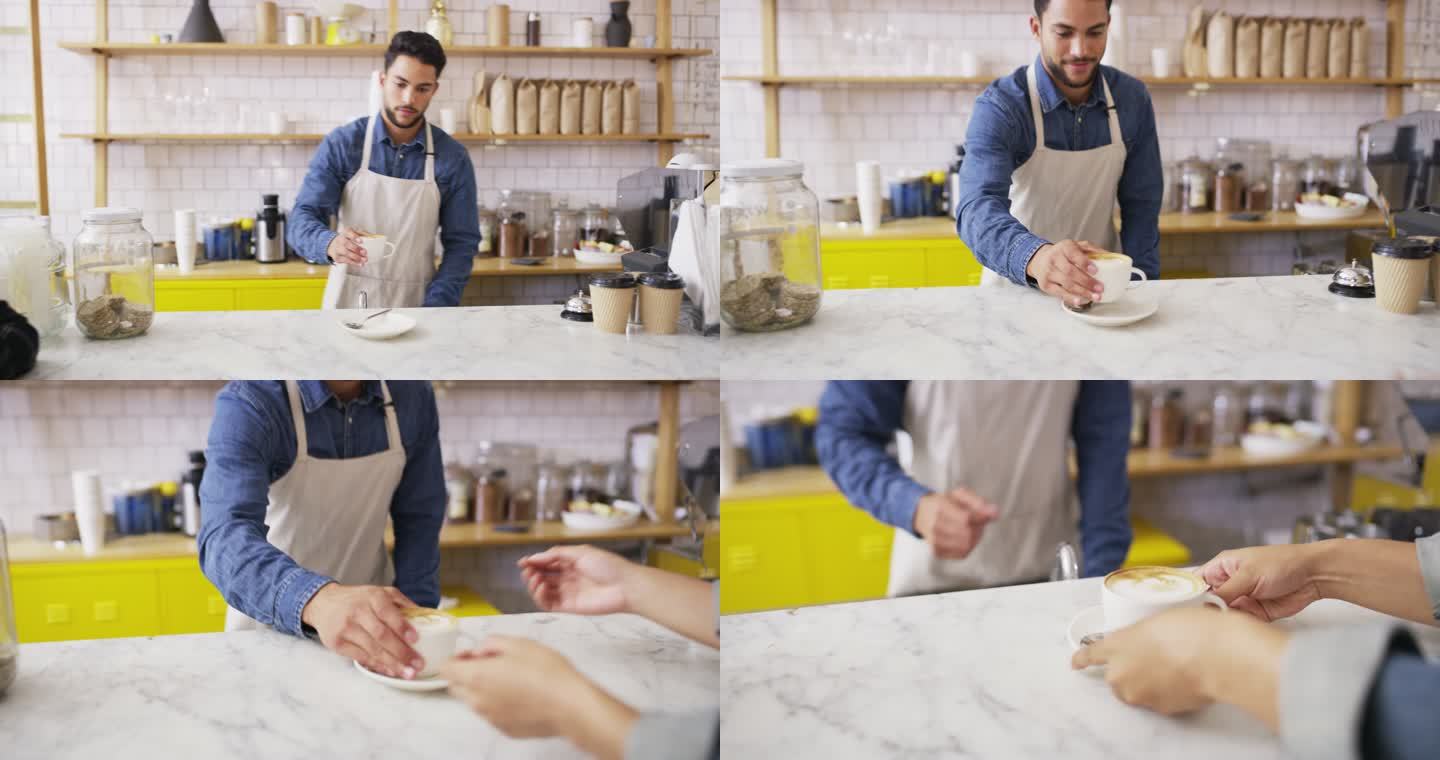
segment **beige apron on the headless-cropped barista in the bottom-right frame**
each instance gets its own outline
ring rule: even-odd
[[[904,428],[910,476],[932,491],[965,487],[999,510],[975,551],[939,560],[896,530],[890,596],[1041,580],[1079,518],[1068,474],[1077,381],[913,381]]]

